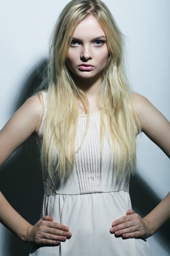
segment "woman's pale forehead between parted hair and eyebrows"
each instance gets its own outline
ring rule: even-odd
[[[96,18],[92,15],[88,16],[84,20],[82,20],[74,31],[74,37],[79,36],[105,36],[105,33],[99,23],[97,22]]]

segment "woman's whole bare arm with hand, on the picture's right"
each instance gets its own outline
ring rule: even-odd
[[[170,158],[170,123],[145,97],[133,94],[141,130]],[[112,223],[111,233],[125,238],[152,236],[170,218],[170,192],[146,217],[132,209]]]

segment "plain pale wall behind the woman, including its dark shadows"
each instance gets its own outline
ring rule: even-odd
[[[170,120],[170,1],[105,0],[126,36],[127,72],[143,94]],[[6,0],[0,24],[0,128],[41,81],[38,67],[48,59],[49,36],[67,0]],[[0,189],[31,224],[40,217],[43,185],[35,139],[23,144],[0,170]],[[170,160],[145,135],[139,139],[137,175],[130,195],[133,209],[146,215],[168,193]],[[111,223],[110,223],[111,224]],[[153,256],[170,255],[170,222],[148,238]],[[0,256],[26,256],[24,244],[0,225]]]

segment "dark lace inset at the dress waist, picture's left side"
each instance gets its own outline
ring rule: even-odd
[[[49,176],[47,171],[43,171],[43,182],[44,182],[44,194],[46,195],[57,195],[53,180]]]

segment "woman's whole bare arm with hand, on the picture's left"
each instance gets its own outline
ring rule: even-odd
[[[28,99],[0,131],[0,166],[28,139],[38,132],[43,116],[42,96]],[[49,216],[34,226],[24,220],[0,192],[0,222],[21,240],[31,244],[58,244],[71,237],[68,227],[53,222]]]

